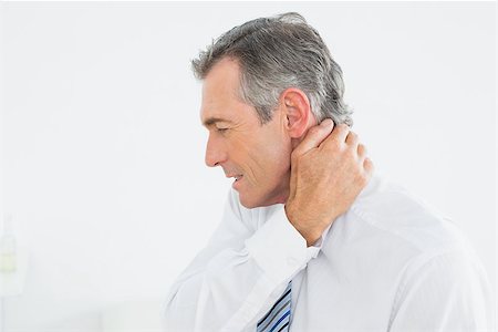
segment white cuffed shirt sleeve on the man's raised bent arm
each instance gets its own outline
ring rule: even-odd
[[[247,214],[249,212],[249,214]],[[315,257],[289,222],[283,205],[260,227],[230,190],[222,220],[172,286],[167,331],[243,331],[278,300],[292,277]]]

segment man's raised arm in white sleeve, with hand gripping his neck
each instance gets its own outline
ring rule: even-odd
[[[292,153],[290,196],[257,229],[231,191],[221,225],[181,273],[167,300],[170,331],[242,331],[256,325],[313,247],[366,185],[364,147],[347,126],[315,126]],[[332,132],[332,134],[331,134]],[[365,166],[366,165],[366,166]],[[256,214],[256,212],[255,212]]]

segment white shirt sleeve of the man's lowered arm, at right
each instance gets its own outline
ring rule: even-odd
[[[450,250],[408,276],[398,291],[391,332],[494,331],[489,282],[475,255]]]

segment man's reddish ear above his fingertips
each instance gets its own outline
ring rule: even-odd
[[[280,107],[286,116],[286,129],[292,138],[301,138],[314,118],[305,93],[295,87],[284,90],[280,95]]]

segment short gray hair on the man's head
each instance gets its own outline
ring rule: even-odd
[[[318,123],[353,124],[343,101],[342,70],[305,19],[295,12],[248,21],[225,32],[191,61],[204,80],[221,59],[240,66],[240,98],[255,106],[261,124],[271,121],[280,94],[289,87],[305,93]]]

